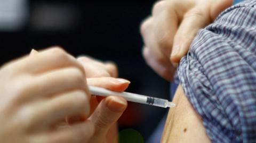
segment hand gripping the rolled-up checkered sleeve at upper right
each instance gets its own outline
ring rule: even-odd
[[[189,49],[197,31],[210,24],[232,0],[163,0],[140,27],[143,57],[161,77],[171,81],[175,66]]]

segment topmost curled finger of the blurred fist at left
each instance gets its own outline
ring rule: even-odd
[[[59,47],[45,49],[36,56],[23,57],[14,63],[14,67],[18,72],[29,72],[31,74],[74,67],[85,74],[83,66],[77,62],[76,58]]]

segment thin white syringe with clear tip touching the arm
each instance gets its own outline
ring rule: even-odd
[[[148,104],[158,107],[175,107],[176,105],[172,102],[169,102],[166,99],[156,98],[156,97],[150,97],[145,95],[139,95],[139,94],[132,94],[130,92],[115,92],[111,91],[105,88],[101,87],[95,87],[95,86],[89,86],[89,90],[92,95],[99,95],[99,96],[121,96],[125,98],[129,102],[135,102],[135,103],[142,103],[142,104]]]

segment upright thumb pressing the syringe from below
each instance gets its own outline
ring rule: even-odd
[[[122,97],[109,96],[103,99],[89,118],[95,125],[94,137],[90,142],[105,139],[108,130],[117,122],[126,107],[127,101]]]

